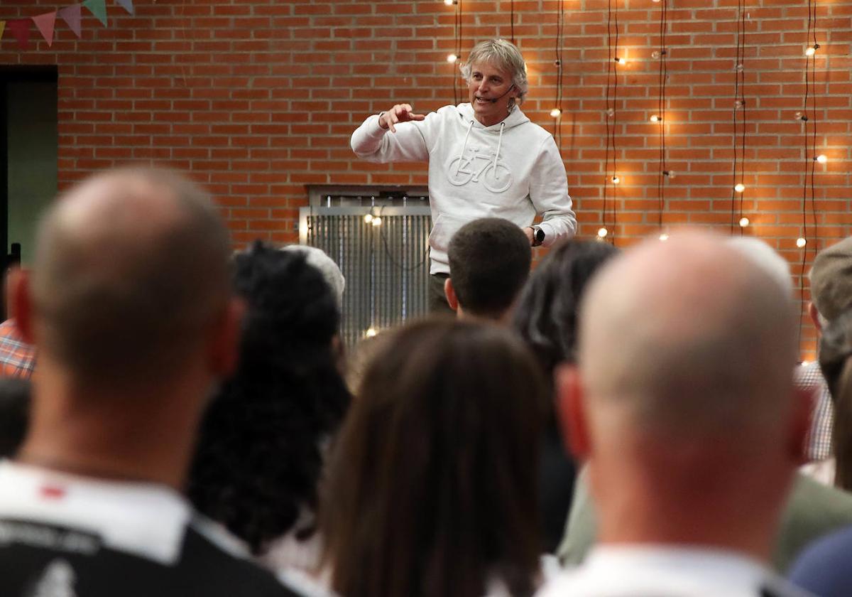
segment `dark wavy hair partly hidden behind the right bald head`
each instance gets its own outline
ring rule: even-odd
[[[518,299],[513,327],[533,350],[550,380],[560,362],[573,362],[580,299],[592,275],[619,249],[607,242],[566,241],[530,276]]]

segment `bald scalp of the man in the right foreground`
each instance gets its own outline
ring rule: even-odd
[[[792,299],[712,235],[650,241],[607,265],[581,305],[591,416],[657,435],[754,437],[792,406]]]

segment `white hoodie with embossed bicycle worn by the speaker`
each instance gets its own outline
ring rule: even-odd
[[[371,162],[429,162],[430,273],[449,273],[452,235],[480,217],[503,217],[522,228],[540,213],[545,246],[574,235],[577,220],[556,142],[520,108],[484,126],[470,104],[445,106],[395,128],[388,134],[373,115],[352,134],[352,149]]]

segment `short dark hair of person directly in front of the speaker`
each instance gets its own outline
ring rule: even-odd
[[[458,304],[473,315],[499,317],[527,281],[533,250],[514,223],[483,217],[452,235],[447,257]]]

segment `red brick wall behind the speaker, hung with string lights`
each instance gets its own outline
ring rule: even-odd
[[[619,245],[658,234],[656,172],[659,3],[619,4]],[[734,0],[668,0],[666,144],[678,176],[665,190],[665,222],[728,230]],[[3,0],[0,19],[70,2]],[[525,112],[552,128],[558,2],[515,2],[515,38],[527,58]],[[751,0],[746,23],[745,209],[747,235],[770,241],[801,270],[803,46],[807,4]],[[353,159],[348,136],[395,101],[432,110],[452,101],[454,7],[441,0],[136,0],[135,14],[107,0],[109,26],[83,9],[83,36],[60,20],[49,48],[32,27],[23,52],[11,33],[0,64],[56,64],[60,79],[60,185],[126,160],[155,159],[191,171],[216,194],[239,241],[296,238],[310,183],[425,183],[424,165]],[[607,2],[565,6],[562,152],[581,235],[601,222]],[[852,2],[817,0],[819,241],[849,235],[849,43]],[[509,37],[510,2],[463,0],[463,55],[475,40]],[[810,217],[810,216],[809,216]],[[798,283],[798,279],[796,280]],[[803,351],[814,335],[803,327]]]

